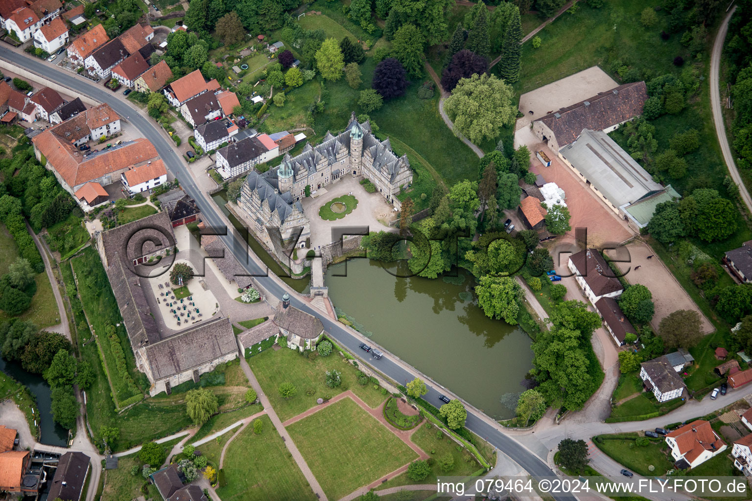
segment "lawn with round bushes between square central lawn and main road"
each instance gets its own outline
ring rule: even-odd
[[[441,433],[441,439],[438,438],[437,432]],[[392,478],[390,481],[384,482],[384,484],[379,487],[380,489],[416,483],[435,484],[436,478],[439,476],[450,475],[465,477],[472,475],[479,469],[483,469],[483,466],[478,463],[475,456],[470,454],[467,449],[462,448],[460,451],[457,451],[457,442],[454,442],[446,435],[446,433],[440,431],[435,424],[430,422],[422,424],[420,429],[413,433],[410,439],[415,445],[422,448],[426,454],[430,454],[434,461],[438,460],[439,457],[450,454],[454,458],[454,468],[449,472],[442,472],[441,469],[439,469],[438,464],[434,462],[431,466],[431,474],[424,480],[415,482],[408,478],[407,473],[402,473],[395,478]]]

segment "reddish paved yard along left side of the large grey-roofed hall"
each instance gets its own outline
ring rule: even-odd
[[[548,149],[529,128],[517,130],[514,134],[514,146],[526,144],[531,152],[531,171],[541,174],[546,183],[556,183],[564,190],[565,200],[572,219],[569,224],[572,237],[575,228],[587,228],[588,246],[601,246],[604,243],[620,243],[632,237],[633,232],[611,209],[609,209],[596,195],[579,180],[559,158]],[[551,166],[544,167],[535,151],[543,149],[551,159]]]

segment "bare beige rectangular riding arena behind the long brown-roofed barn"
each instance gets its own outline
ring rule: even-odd
[[[569,77],[526,92],[520,96],[520,111],[525,116],[517,119],[515,128],[526,127],[530,122],[541,118],[541,116],[584,101],[599,92],[605,92],[618,85],[616,80],[609,77],[605,71],[593,66],[593,68],[587,68],[587,70],[579,71],[569,75]],[[530,111],[532,111],[532,115]]]

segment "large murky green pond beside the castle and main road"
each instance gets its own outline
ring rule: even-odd
[[[401,263],[397,274],[405,276]],[[526,389],[520,383],[532,368],[531,340],[520,327],[488,318],[475,300],[474,277],[459,275],[462,285],[397,278],[378,261],[350,259],[327,268],[326,285],[335,307],[374,342],[487,415],[512,418],[502,400],[514,402]]]

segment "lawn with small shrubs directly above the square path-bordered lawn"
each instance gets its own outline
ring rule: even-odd
[[[269,398],[271,406],[282,421],[287,421],[316,405],[319,397],[334,397],[342,391],[352,390],[368,406],[375,407],[386,400],[374,385],[359,385],[356,368],[344,363],[338,353],[332,350],[328,357],[317,356],[314,360],[303,357],[296,350],[282,348],[264,350],[248,359],[253,374]],[[342,373],[339,388],[329,388],[324,379],[326,371],[336,369]],[[277,388],[284,382],[291,382],[298,392],[289,400],[280,397]],[[312,390],[313,395],[306,392]]]

